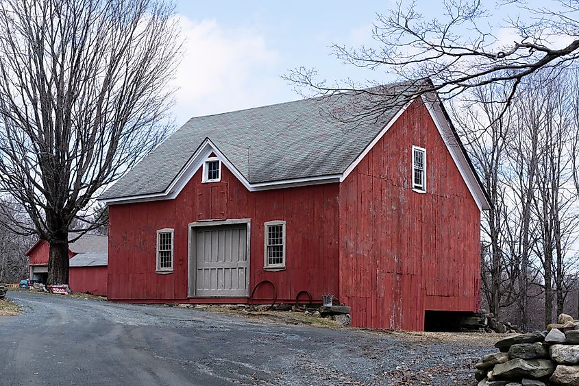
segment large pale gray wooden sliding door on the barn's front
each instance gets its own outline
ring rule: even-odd
[[[192,228],[193,293],[248,296],[247,224]]]

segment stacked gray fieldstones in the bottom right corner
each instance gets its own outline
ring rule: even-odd
[[[495,343],[500,350],[475,365],[479,386],[579,386],[579,321],[561,314],[543,332]]]

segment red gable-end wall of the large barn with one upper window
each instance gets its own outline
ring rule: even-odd
[[[427,193],[410,186],[427,149]],[[421,100],[340,186],[340,297],[352,324],[423,330],[425,310],[476,311],[480,210]]]

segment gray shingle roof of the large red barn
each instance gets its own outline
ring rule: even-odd
[[[206,138],[249,183],[343,173],[402,108],[408,82],[370,90],[389,100],[367,119],[355,118],[375,102],[367,93],[191,118],[99,199],[164,192]]]

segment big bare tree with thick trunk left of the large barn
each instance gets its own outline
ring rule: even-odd
[[[0,191],[49,241],[49,283],[68,282],[69,230],[98,226],[95,193],[166,136],[179,38],[154,0],[0,3]]]

